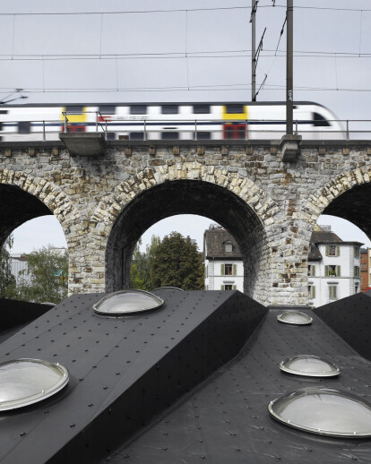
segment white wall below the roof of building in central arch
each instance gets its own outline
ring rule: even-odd
[[[226,263],[235,267],[235,275],[222,275],[221,266]],[[231,285],[232,290],[244,291],[244,264],[240,260],[205,260],[205,290],[224,290]]]

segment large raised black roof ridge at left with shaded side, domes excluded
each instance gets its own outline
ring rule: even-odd
[[[71,296],[0,345],[0,361],[59,362],[54,398],[3,414],[0,460],[96,462],[234,357],[266,314],[239,292],[159,290],[159,310],[102,317],[103,294]]]

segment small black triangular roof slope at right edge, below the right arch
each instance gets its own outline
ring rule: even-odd
[[[314,310],[333,331],[371,361],[371,291],[342,298]]]

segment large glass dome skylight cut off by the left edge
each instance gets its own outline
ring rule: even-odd
[[[63,365],[39,359],[0,364],[0,411],[22,408],[56,394],[68,383]]]

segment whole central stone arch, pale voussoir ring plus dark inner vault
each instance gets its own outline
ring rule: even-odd
[[[246,293],[266,302],[270,280],[266,228],[275,211],[276,204],[262,189],[226,168],[192,162],[145,169],[118,185],[92,216],[108,234],[106,289],[127,288],[134,245],[147,228],[168,216],[188,213],[229,229],[244,254]],[[122,275],[115,272],[120,269]]]

